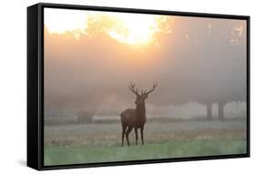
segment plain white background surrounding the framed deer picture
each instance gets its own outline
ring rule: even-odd
[[[49,1],[41,1],[49,2]],[[255,35],[253,0],[56,0],[54,3],[105,5],[170,11],[251,15],[251,158],[218,159],[94,169],[62,169],[42,173],[242,173],[255,170]],[[26,6],[31,1],[1,1],[0,5],[0,173],[36,173],[26,168]]]

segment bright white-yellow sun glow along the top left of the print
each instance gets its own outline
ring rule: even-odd
[[[108,36],[122,44],[148,45],[154,42],[154,36],[160,30],[159,15],[50,8],[45,10],[45,26],[49,33],[65,34],[68,31],[80,31],[90,35],[87,32],[87,28],[91,25],[88,24],[90,18],[95,23],[100,23],[98,26]],[[107,26],[109,21],[111,25]],[[77,35],[77,32],[74,33]]]

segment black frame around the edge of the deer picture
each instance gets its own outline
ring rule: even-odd
[[[44,166],[44,8],[80,9],[106,12],[127,12],[154,15],[181,15],[226,19],[242,19],[247,24],[247,152],[236,155],[147,159],[119,162]],[[27,7],[27,166],[33,169],[75,169],[145,163],[177,162],[206,159],[250,157],[250,16],[172,12],[148,9],[116,8],[88,5],[36,4]]]

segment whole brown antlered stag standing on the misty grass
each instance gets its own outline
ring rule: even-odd
[[[124,146],[125,135],[129,146],[128,135],[132,128],[135,130],[136,145],[138,145],[138,128],[140,129],[141,143],[144,145],[143,130],[146,123],[145,100],[147,99],[148,94],[155,90],[157,83],[154,82],[152,89],[148,91],[141,89],[140,94],[138,94],[138,88],[135,89],[135,86],[136,84],[132,84],[132,82],[128,84],[129,90],[136,95],[136,107],[134,109],[128,108],[120,114],[122,124],[122,146]]]

